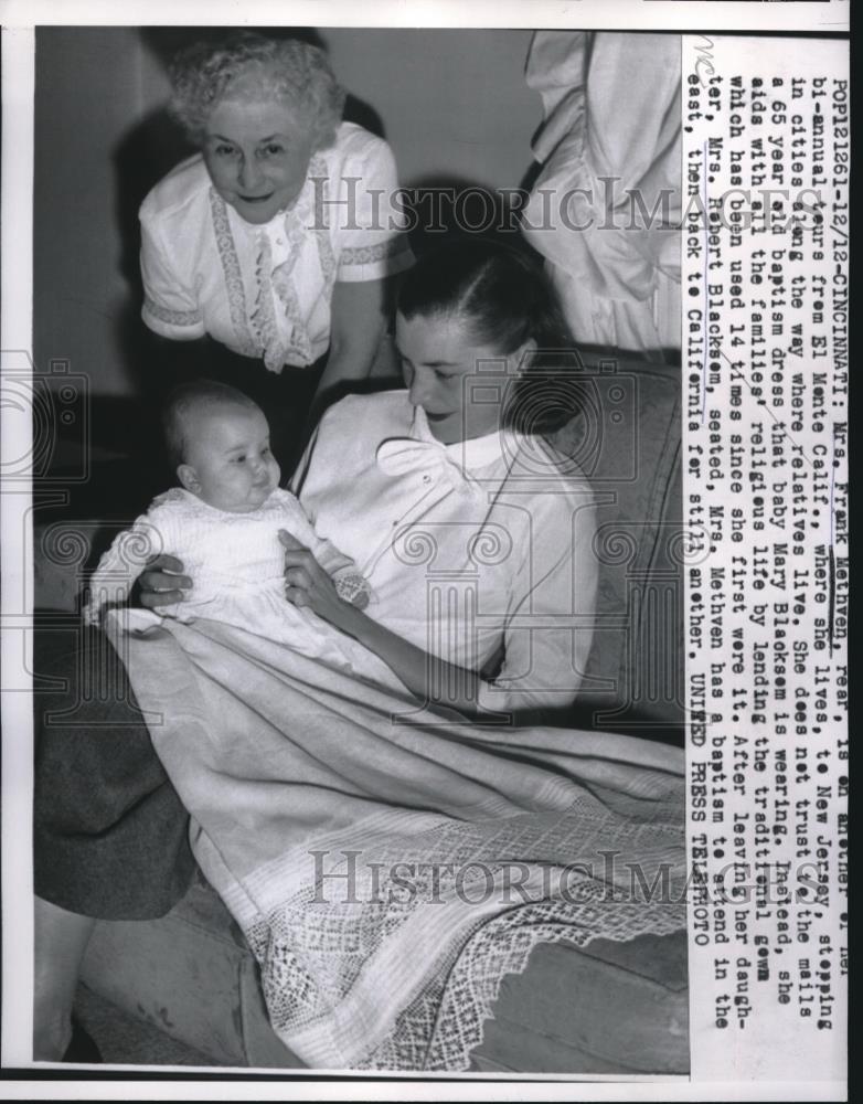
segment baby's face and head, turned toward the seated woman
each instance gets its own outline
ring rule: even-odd
[[[278,487],[281,473],[259,410],[219,405],[195,412],[185,456],[179,469],[183,486],[220,510],[249,513]]]

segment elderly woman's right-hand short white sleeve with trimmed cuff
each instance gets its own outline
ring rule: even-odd
[[[364,135],[366,148],[345,158],[339,190],[337,280],[383,279],[414,263],[395,158],[385,141]]]

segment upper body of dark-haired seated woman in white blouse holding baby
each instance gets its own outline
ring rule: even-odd
[[[542,438],[577,412],[572,365],[555,367],[573,351],[556,300],[522,254],[466,242],[406,278],[396,341],[407,390],[339,404],[295,479],[321,533],[373,565],[374,607],[351,614],[291,542],[288,597],[377,654],[420,699],[433,676],[460,688],[448,704],[466,713],[480,700],[565,708],[590,646],[597,565],[590,489]],[[430,548],[415,548],[423,541]],[[476,588],[470,631],[445,630],[446,612],[427,606],[426,580],[441,572]],[[146,605],[174,585],[143,582],[157,592]],[[492,686],[480,672],[496,659]]]

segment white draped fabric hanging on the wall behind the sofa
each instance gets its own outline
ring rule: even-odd
[[[680,348],[680,50],[673,34],[537,31],[531,43],[543,168],[522,224],[585,344]]]

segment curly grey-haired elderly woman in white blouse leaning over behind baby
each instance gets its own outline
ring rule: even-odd
[[[375,360],[386,278],[412,263],[393,155],[341,121],[344,92],[308,43],[248,32],[199,43],[171,81],[173,113],[201,152],[141,205],[143,320],[235,354],[216,360],[284,434],[286,417],[296,423],[284,407],[303,393],[298,371],[323,394]],[[286,369],[292,386],[267,376]]]

